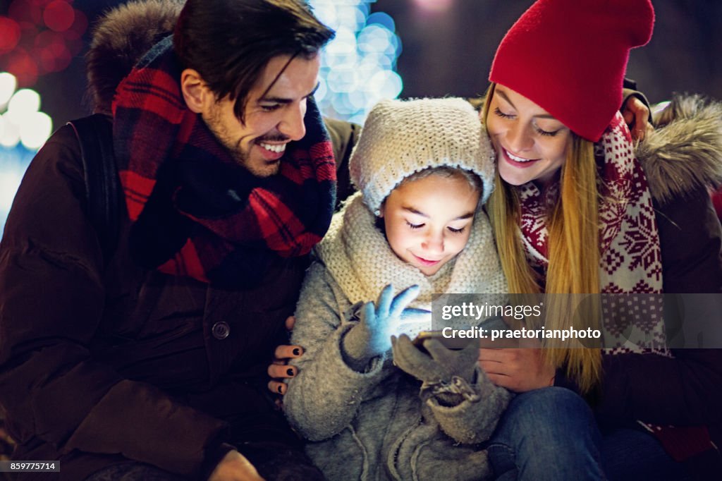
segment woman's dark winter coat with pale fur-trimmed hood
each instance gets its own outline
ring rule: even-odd
[[[657,120],[663,126],[639,145],[637,155],[656,209],[664,292],[716,293],[719,303],[722,230],[708,186],[722,181],[722,105],[677,98]],[[716,323],[719,332],[722,315],[716,310],[710,316],[708,321]],[[671,352],[674,358],[604,358],[604,384],[596,405],[602,425],[628,425],[633,420],[704,425],[722,446],[722,350]]]

